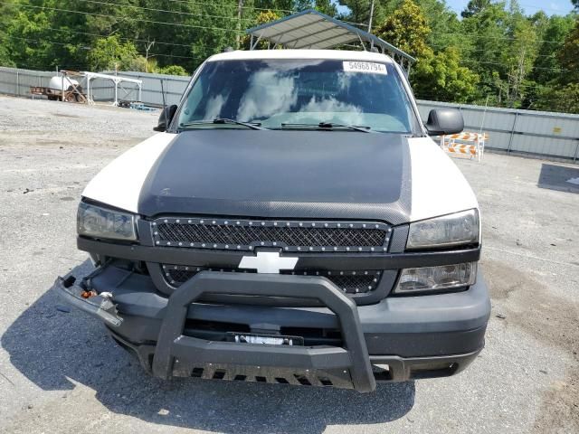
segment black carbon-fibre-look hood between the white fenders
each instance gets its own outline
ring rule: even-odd
[[[180,133],[147,175],[138,211],[408,222],[406,138],[346,131]]]

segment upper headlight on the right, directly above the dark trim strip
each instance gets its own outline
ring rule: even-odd
[[[479,212],[469,210],[410,223],[407,249],[459,246],[479,242]]]

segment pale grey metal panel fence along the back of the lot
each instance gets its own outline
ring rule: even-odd
[[[114,74],[114,71],[105,71]],[[0,93],[30,96],[31,86],[48,86],[52,71],[29,71],[0,67]],[[165,90],[166,104],[177,104],[190,77],[179,77],[145,72],[123,71],[119,75],[143,80],[142,102],[161,107]],[[86,84],[81,82],[86,89]],[[113,99],[109,80],[92,80],[90,87],[95,100]],[[138,99],[137,87],[123,83],[119,99]],[[489,134],[487,148],[507,154],[541,156],[568,162],[579,161],[579,115],[519,109],[498,109],[465,104],[418,100],[422,120],[437,108],[460,109],[465,130],[482,130]]]

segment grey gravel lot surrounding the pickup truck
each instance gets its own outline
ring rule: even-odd
[[[157,113],[0,97],[0,119],[0,431],[579,432],[579,185],[557,180],[579,166],[458,161],[482,209],[493,304],[465,373],[366,395],[161,382],[51,290],[90,269],[75,248],[82,187],[153,134]]]

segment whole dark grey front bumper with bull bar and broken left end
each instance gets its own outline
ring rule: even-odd
[[[70,283],[57,281],[62,297],[106,320],[91,298],[78,297],[78,288]],[[386,297],[375,305],[357,307],[329,280],[314,276],[204,271],[170,297],[159,293],[147,276],[114,267],[103,269],[90,283],[99,294],[112,294],[119,313],[110,309],[107,313],[113,312],[119,321],[106,324],[113,337],[158,377],[332,385],[359,392],[373,391],[376,380],[460,372],[484,345],[490,311],[481,276],[464,292]],[[271,305],[195,303],[206,294],[271,297]],[[283,307],[292,297],[315,298],[326,307]],[[242,324],[252,330],[337,329],[342,343],[235,344],[185,334],[188,320]]]

